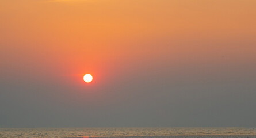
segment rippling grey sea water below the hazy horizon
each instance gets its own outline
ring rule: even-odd
[[[256,128],[0,128],[0,137],[256,138]]]

